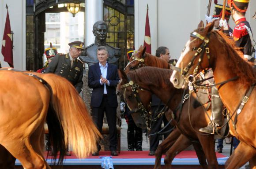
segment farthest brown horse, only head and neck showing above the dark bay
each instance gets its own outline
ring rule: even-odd
[[[140,45],[139,49],[133,53],[132,57],[129,59],[127,66],[124,68],[125,73],[136,70],[143,66],[152,66],[164,69],[170,68],[169,63],[166,62],[164,59],[158,58],[145,51],[146,48],[143,48],[142,45]]]

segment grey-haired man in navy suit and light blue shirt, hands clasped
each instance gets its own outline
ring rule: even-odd
[[[117,66],[107,62],[108,51],[105,46],[97,49],[98,63],[89,67],[88,86],[93,88],[91,96],[92,118],[98,130],[102,131],[104,112],[109,125],[111,155],[117,156],[117,95],[119,82]],[[98,151],[101,147],[98,144]],[[98,151],[92,155],[98,155]]]

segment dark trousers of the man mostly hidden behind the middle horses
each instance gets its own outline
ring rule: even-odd
[[[164,106],[159,106],[159,110],[162,110]],[[158,113],[158,106],[152,106],[151,110],[153,112],[153,117],[157,116]],[[164,125],[168,124],[168,120],[166,119],[165,114],[162,115],[160,118],[158,118],[156,121],[151,122],[151,132],[150,134],[154,134],[155,132],[159,132],[161,130],[162,127],[162,121],[164,121]],[[168,125],[166,126],[166,128],[164,129],[163,132],[168,131],[169,129],[171,129],[172,126]],[[169,136],[170,132],[164,134],[165,138],[167,138],[167,136]],[[150,140],[149,140],[149,150],[150,151],[156,151],[158,144],[159,144],[159,135],[155,134],[155,135],[151,135],[150,136]]]

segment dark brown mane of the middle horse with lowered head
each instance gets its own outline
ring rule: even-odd
[[[165,88],[172,85],[169,80],[172,73],[173,70],[170,69],[146,66],[128,72],[127,76],[135,82],[141,82],[146,85],[154,85],[157,87],[160,87],[159,85],[161,84],[161,87]]]

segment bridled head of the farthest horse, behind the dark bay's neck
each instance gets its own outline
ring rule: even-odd
[[[140,45],[137,51],[134,51],[132,57],[129,59],[127,66],[124,68],[125,73],[146,66],[144,62],[146,57],[145,51],[146,47],[143,48],[142,45]]]

